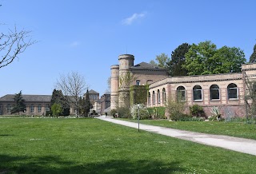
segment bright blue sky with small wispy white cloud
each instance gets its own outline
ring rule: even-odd
[[[184,42],[239,47],[256,43],[255,0],[0,0],[0,31],[31,30],[38,43],[0,69],[0,97],[51,95],[60,74],[75,71],[100,96],[118,55],[150,62]],[[1,55],[1,53],[0,53]]]

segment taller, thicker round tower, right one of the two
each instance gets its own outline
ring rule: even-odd
[[[130,67],[134,65],[134,55],[122,54],[119,61],[119,90],[118,106],[130,107]]]

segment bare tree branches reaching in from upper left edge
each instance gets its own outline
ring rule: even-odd
[[[0,34],[0,68],[9,65],[20,53],[36,41],[31,41],[31,31],[18,31],[16,26],[14,30],[9,30],[8,34]]]

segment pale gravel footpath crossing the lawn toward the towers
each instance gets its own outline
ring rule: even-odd
[[[118,125],[125,125],[134,129],[138,129],[138,123],[130,121],[120,121],[111,117],[97,117],[102,121],[109,121]],[[140,130],[154,132],[165,136],[171,136],[182,140],[190,140],[200,144],[226,148],[237,152],[248,153],[256,156],[256,140],[245,138],[237,138],[233,136],[211,135],[206,133],[189,132],[178,129],[169,129],[154,125],[139,124]]]

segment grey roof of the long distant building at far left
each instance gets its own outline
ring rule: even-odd
[[[14,101],[15,94],[7,94],[0,98],[0,101]],[[25,101],[50,102],[51,95],[23,95]]]

